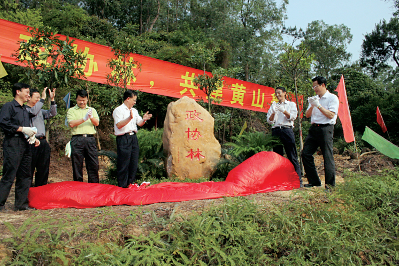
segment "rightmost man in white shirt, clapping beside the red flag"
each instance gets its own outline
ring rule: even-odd
[[[309,184],[305,187],[321,186],[317,174],[313,154],[320,147],[324,159],[324,176],[326,189],[335,186],[335,162],[333,154],[334,125],[337,120],[339,100],[330,93],[324,77],[317,76],[312,79],[312,88],[316,96],[309,97],[309,106],[306,110],[306,117],[311,117],[308,136],[302,151],[302,161]]]

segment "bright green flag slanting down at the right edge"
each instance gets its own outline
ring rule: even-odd
[[[369,142],[373,147],[378,149],[384,155],[387,155],[393,159],[399,159],[399,147],[391,142],[389,142],[384,137],[375,133],[368,127],[366,127],[365,133],[362,136],[363,140]]]

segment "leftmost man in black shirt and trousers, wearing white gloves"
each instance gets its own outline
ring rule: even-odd
[[[30,163],[32,159],[28,137],[36,131],[30,128],[30,114],[23,103],[29,99],[29,85],[16,83],[12,86],[14,100],[5,103],[0,110],[0,128],[3,130],[3,175],[0,180],[0,210],[5,210],[12,183],[15,181],[15,211],[30,209],[28,192],[32,178]],[[34,139],[35,145],[40,142]]]

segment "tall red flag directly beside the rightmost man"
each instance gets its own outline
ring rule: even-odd
[[[349,111],[348,98],[346,96],[344,76],[341,75],[340,83],[337,89],[340,106],[338,108],[338,117],[341,120],[342,129],[344,130],[344,138],[346,142],[355,141],[355,134],[353,133],[351,112]]]

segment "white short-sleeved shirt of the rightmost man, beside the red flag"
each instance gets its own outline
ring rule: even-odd
[[[338,97],[335,94],[332,94],[329,91],[327,91],[322,98],[320,98],[319,96],[317,98],[319,99],[319,103],[322,107],[324,107],[328,111],[335,113],[335,115],[332,119],[329,119],[328,117],[323,115],[323,113],[317,107],[313,107],[310,123],[335,125],[337,121],[338,107],[340,105]],[[309,104],[307,110],[309,110],[311,107],[312,106]]]

